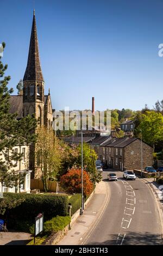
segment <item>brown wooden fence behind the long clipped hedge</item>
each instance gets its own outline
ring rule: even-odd
[[[48,180],[48,187],[50,192],[56,192],[57,189],[57,182],[56,181],[49,181]],[[43,191],[43,182],[42,180],[30,180],[30,190],[34,190],[35,188]]]

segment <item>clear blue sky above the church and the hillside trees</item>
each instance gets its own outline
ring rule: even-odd
[[[34,0],[1,1],[3,63],[26,70]],[[152,108],[163,99],[162,0],[35,0],[45,93],[55,109]],[[17,94],[16,89],[14,94]]]

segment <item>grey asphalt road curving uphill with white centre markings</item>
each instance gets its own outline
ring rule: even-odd
[[[141,179],[103,180],[110,187],[108,205],[85,245],[161,245],[158,210],[150,188]],[[109,188],[108,188],[109,189]]]

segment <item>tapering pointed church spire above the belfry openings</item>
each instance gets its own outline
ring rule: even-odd
[[[28,63],[27,63],[27,68],[24,74],[23,81],[43,82],[43,75],[41,71],[40,57],[39,57],[39,45],[37,40],[35,10],[33,14],[32,32],[30,36]]]

